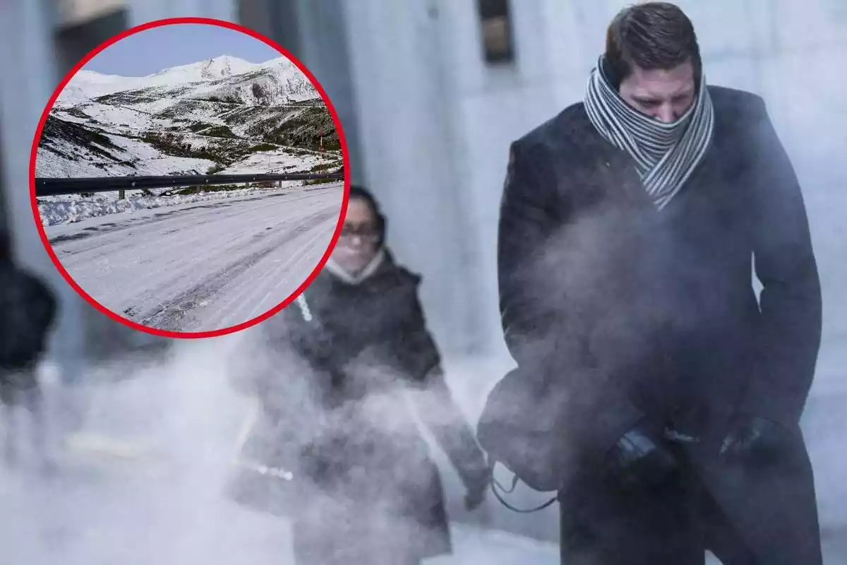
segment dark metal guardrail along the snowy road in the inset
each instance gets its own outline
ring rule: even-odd
[[[36,197],[80,192],[132,191],[167,186],[233,185],[272,180],[344,180],[344,173],[187,174],[171,176],[36,177]]]

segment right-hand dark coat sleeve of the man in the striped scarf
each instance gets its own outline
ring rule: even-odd
[[[756,102],[750,208],[763,290],[740,411],[793,426],[800,422],[821,345],[821,285],[797,175],[765,103]]]

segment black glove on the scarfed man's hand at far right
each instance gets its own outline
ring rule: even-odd
[[[730,424],[721,446],[721,457],[745,463],[767,463],[778,456],[787,440],[787,430],[771,420],[741,415]]]

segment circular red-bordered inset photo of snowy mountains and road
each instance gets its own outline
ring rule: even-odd
[[[47,104],[36,224],[80,295],[171,337],[244,329],[290,303],[338,238],[340,121],[309,70],[216,19],[163,19],[97,47]]]

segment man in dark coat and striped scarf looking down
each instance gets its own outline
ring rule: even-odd
[[[501,202],[518,368],[479,440],[558,491],[563,563],[822,562],[810,239],[761,97],[706,85],[673,4],[624,9],[584,102],[512,144]]]

